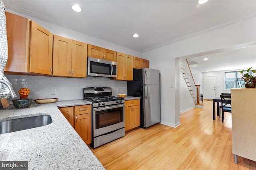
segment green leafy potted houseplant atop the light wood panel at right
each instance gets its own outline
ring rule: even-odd
[[[252,72],[250,72],[250,70]],[[246,88],[256,88],[256,76],[254,76],[256,73],[256,70],[252,70],[252,67],[251,67],[251,68],[248,68],[246,71],[247,71],[247,73],[245,73],[244,75],[243,75],[244,70],[239,71],[242,74],[242,78],[246,82],[245,87]],[[254,73],[254,74],[252,74],[252,73]]]

